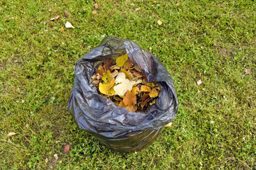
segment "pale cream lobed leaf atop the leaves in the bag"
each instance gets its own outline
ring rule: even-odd
[[[127,90],[132,91],[132,86],[134,86],[135,81],[129,81],[129,79],[125,79],[125,74],[120,72],[115,79],[117,86],[114,86],[115,94],[118,96],[124,96]]]

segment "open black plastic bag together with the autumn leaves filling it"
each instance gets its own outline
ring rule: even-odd
[[[178,101],[156,56],[107,37],[76,62],[68,108],[78,127],[103,145],[131,152],[149,146],[174,120]]]

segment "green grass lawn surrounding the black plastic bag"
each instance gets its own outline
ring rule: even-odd
[[[97,3],[0,1],[0,169],[255,169],[256,2]],[[152,47],[174,77],[176,119],[140,152],[107,149],[68,112],[75,62],[107,35]]]

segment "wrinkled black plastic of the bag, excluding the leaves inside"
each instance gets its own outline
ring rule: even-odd
[[[115,106],[97,93],[91,81],[103,60],[125,53],[149,82],[159,83],[159,98],[146,113]],[[161,128],[174,120],[178,101],[171,75],[154,55],[132,41],[107,37],[75,64],[75,85],[68,108],[79,128],[111,149],[128,152],[143,149],[156,139]]]

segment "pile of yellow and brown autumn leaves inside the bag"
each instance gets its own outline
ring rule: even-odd
[[[157,83],[149,83],[127,54],[117,60],[107,58],[100,64],[92,82],[100,95],[128,111],[146,111],[159,96]]]

